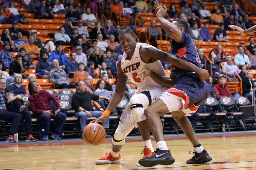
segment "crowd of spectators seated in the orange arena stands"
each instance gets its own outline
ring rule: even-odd
[[[156,13],[157,4],[156,0],[148,0],[147,2],[143,0],[136,2],[133,0],[114,0],[110,9],[112,10],[112,19],[118,23],[118,17],[126,17],[129,14],[130,27],[136,33],[137,27],[145,27],[140,12]],[[96,0],[90,2],[83,14],[78,11],[78,6],[74,0],[69,0],[69,3],[65,5],[60,0],[31,0],[24,7],[30,13],[34,13],[37,19],[54,19],[53,14],[65,14],[66,24],[59,27],[59,32],[54,34],[52,41],[43,43],[38,38],[38,32],[35,29],[28,31],[18,28],[19,23],[24,24],[26,17],[18,12],[13,2],[10,2],[10,8],[5,3],[0,5],[2,7],[2,11],[0,9],[0,22],[12,24],[11,27],[3,29],[0,43],[0,103],[2,102],[0,119],[13,122],[6,141],[15,142],[14,134],[17,132],[22,116],[26,120],[28,133],[26,141],[37,141],[32,136],[32,125],[28,121],[29,118],[31,119],[31,115],[29,117],[29,111],[26,111],[28,109],[27,103],[20,99],[23,94],[30,95],[28,98],[29,110],[44,121],[45,131],[42,140],[47,140],[49,137],[51,118],[57,120],[51,137],[55,140],[61,140],[60,133],[66,120],[66,114],[60,111],[58,99],[42,90],[36,81],[37,76],[35,74],[26,75],[26,71],[29,69],[35,69],[38,78],[49,79],[49,82],[53,83],[56,89],[77,89],[72,97],[72,106],[75,109],[75,115],[79,117],[81,129],[86,126],[88,117],[99,117],[102,111],[95,111],[91,100],[110,100],[113,92],[115,92],[115,83],[111,86],[108,79],[115,78],[117,60],[124,53],[118,38],[121,26],[119,24],[113,25],[112,20],[106,20],[102,26],[102,22],[97,20],[93,14],[96,13],[99,16],[101,12]],[[172,3],[165,17],[167,19],[179,17],[186,20],[190,26],[188,35],[193,41],[229,42],[227,30],[232,30],[228,27],[229,24],[237,25],[243,29],[255,25],[249,20],[248,14],[241,13],[237,3],[233,4],[229,0],[222,1],[220,5],[214,5],[211,11],[207,10],[205,4],[199,0],[194,0],[192,4],[181,1],[179,5],[181,9],[179,16],[176,4]],[[200,19],[207,19],[209,22],[202,23]],[[151,20],[148,24],[146,34],[151,37],[150,43],[153,44],[156,39],[161,39],[160,34],[165,32],[157,25],[156,20]],[[209,30],[210,24],[219,25],[213,36]],[[239,94],[232,95],[226,85],[226,80],[228,82],[239,81],[234,79],[234,74],[237,72],[243,80],[242,95],[250,101],[252,100],[252,90],[256,82],[253,81],[253,73],[248,69],[256,69],[254,37],[249,38],[250,44],[248,46],[245,46],[243,41],[239,42],[239,48],[234,48],[229,53],[223,50],[222,45],[212,48],[209,54],[206,54],[210,59],[208,61],[203,48],[197,49],[202,66],[210,74],[212,73],[210,77],[212,82],[214,79],[218,79],[218,82],[215,85],[212,84],[211,88],[211,95],[216,99],[227,96],[234,100],[239,96]],[[69,54],[64,52],[63,46],[66,45],[71,46]],[[12,52],[19,54],[13,56]],[[234,60],[229,55],[234,56]],[[33,65],[35,60],[38,60],[36,66]],[[227,64],[223,66],[224,68],[220,68],[219,64],[223,61]],[[9,73],[6,72],[6,69],[9,69]],[[227,77],[225,76],[226,73]],[[92,86],[94,78],[100,78],[95,89]],[[29,84],[23,86],[23,79],[28,79]],[[71,82],[71,80],[73,81]],[[132,93],[131,88],[136,88],[131,81],[127,80],[125,89],[127,96]],[[13,96],[7,94],[9,92],[12,92]],[[10,105],[18,109],[8,109],[11,108]],[[8,117],[7,114],[11,116]],[[109,128],[109,120],[106,123],[106,128]]]

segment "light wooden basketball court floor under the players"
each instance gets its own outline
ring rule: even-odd
[[[208,164],[186,164],[193,154],[187,138],[167,139],[175,163],[170,166],[154,166],[143,169],[256,169],[256,134],[199,137],[201,144],[212,157]],[[152,141],[154,149],[156,143]],[[18,144],[18,143],[17,143]],[[111,149],[111,141],[91,146],[84,142],[73,143],[29,143],[1,145],[0,170],[121,170],[142,169],[135,163],[142,158],[143,142],[127,140],[121,150],[122,163],[95,165],[94,160]]]

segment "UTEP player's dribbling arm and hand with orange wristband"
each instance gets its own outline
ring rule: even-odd
[[[110,112],[112,112],[115,109],[115,107],[117,107],[117,105],[122,100],[125,92],[127,76],[122,71],[121,59],[118,61],[118,64],[117,64],[117,74],[118,74],[118,78],[117,78],[115,93],[113,94],[110,100],[110,103],[108,104],[108,107],[99,118],[91,121],[90,123],[102,122],[105,125],[106,117],[110,114]]]

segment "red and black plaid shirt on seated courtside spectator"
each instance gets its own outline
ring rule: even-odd
[[[41,114],[43,111],[52,111],[51,101],[55,103],[57,109],[60,109],[57,97],[49,94],[46,90],[40,90],[38,95],[32,94],[28,97],[28,101],[30,101],[30,109],[33,113]]]

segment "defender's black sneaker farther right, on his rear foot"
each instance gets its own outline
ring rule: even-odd
[[[202,164],[202,163],[207,163],[212,160],[212,157],[207,153],[206,150],[203,150],[203,152],[198,153],[198,152],[189,152],[190,154],[194,154],[192,158],[187,160],[188,164]]]

